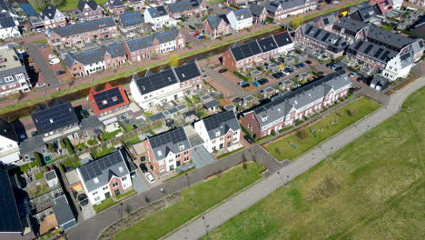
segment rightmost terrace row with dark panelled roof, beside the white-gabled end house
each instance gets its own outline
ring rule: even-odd
[[[368,68],[379,71],[385,68],[397,52],[371,42],[357,40],[347,48],[346,55],[359,63],[364,63]]]

